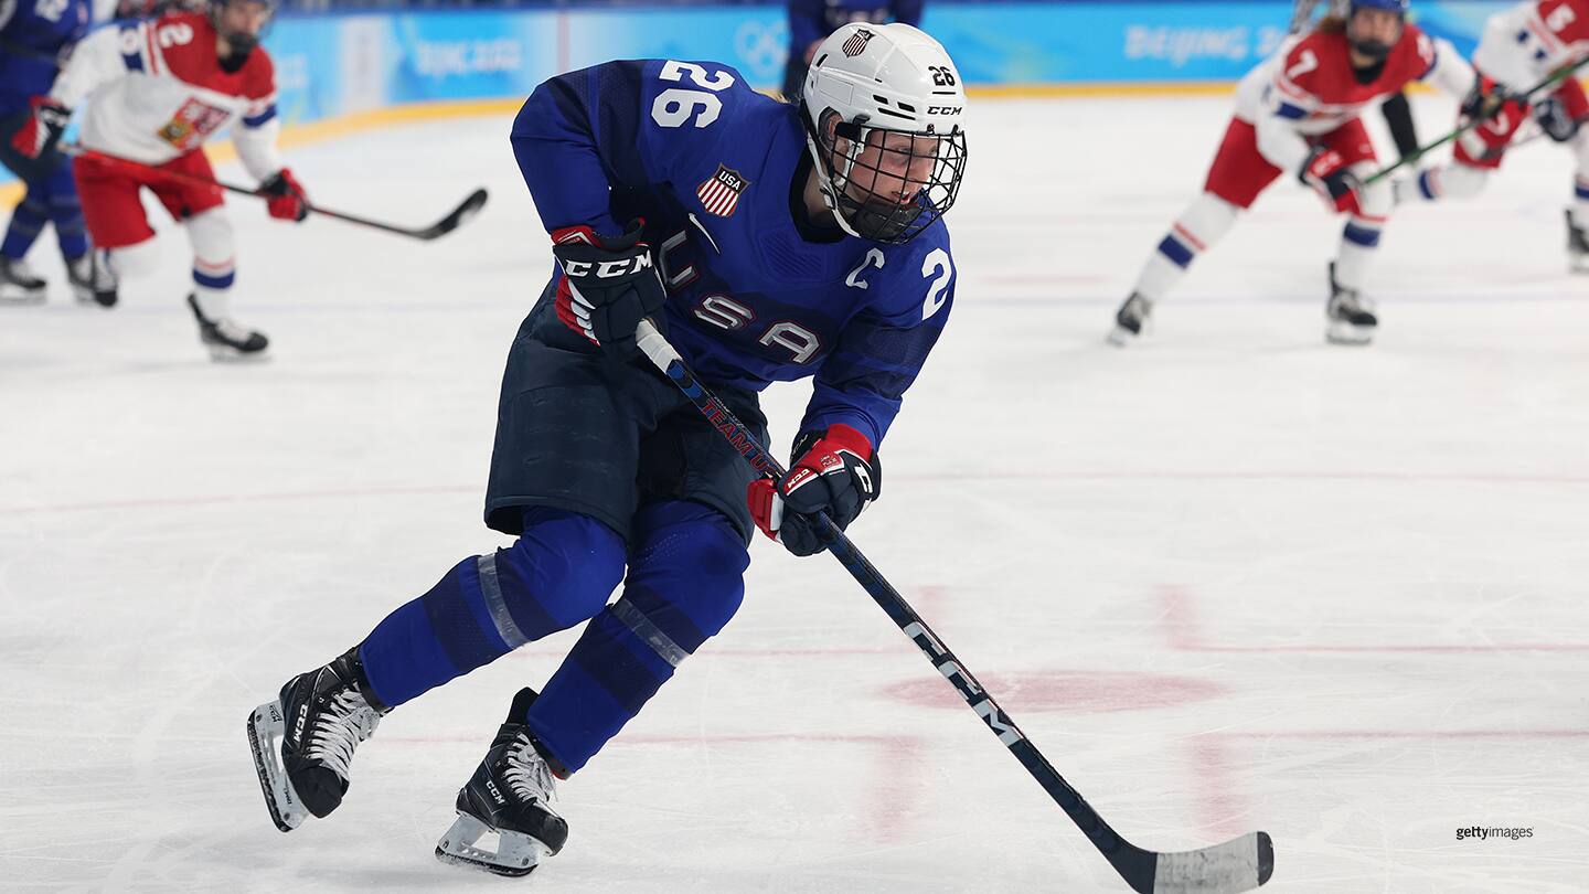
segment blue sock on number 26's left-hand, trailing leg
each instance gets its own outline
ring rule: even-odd
[[[508,549],[466,558],[359,646],[389,706],[590,619],[623,577],[623,538],[588,515],[526,509]]]

